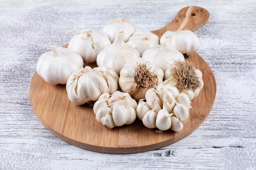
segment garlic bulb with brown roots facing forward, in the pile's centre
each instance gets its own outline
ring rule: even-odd
[[[164,72],[143,58],[134,58],[120,71],[119,86],[133,99],[144,99],[149,88],[163,82]]]

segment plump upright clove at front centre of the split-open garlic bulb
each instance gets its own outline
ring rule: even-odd
[[[171,128],[171,115],[167,110],[161,109],[157,113],[156,126],[159,130],[168,130]]]

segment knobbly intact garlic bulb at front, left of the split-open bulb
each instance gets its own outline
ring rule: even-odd
[[[128,93],[103,93],[93,106],[96,120],[107,128],[132,124],[136,119],[137,102]]]

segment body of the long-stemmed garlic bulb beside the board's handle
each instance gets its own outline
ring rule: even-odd
[[[166,31],[160,38],[160,44],[166,42],[166,37],[172,36],[171,46],[182,54],[191,55],[200,49],[200,40],[190,30]]]

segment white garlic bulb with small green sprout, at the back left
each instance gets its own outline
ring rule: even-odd
[[[86,63],[96,62],[99,52],[111,44],[108,35],[101,31],[95,29],[72,30],[76,32],[76,35],[70,40],[68,48],[79,53]]]

